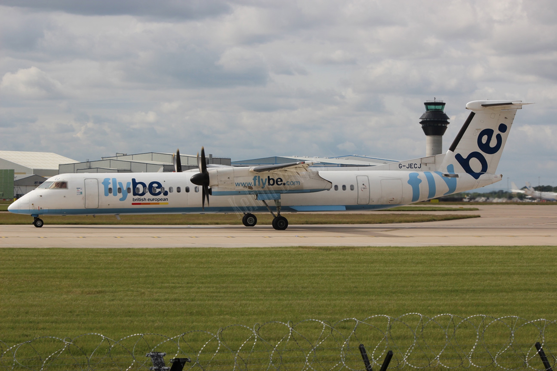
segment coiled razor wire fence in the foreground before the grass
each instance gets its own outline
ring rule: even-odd
[[[408,313],[333,324],[308,319],[252,328],[231,325],[216,333],[192,330],[173,337],[149,333],[113,340],[89,333],[72,339],[38,337],[16,345],[0,340],[0,369],[377,371],[390,350],[389,369],[546,370],[555,367],[556,340],[557,323],[552,320]],[[536,343],[543,347],[545,365]],[[367,349],[368,367],[360,344]],[[158,354],[160,362],[167,355],[167,366],[155,365],[148,353]],[[182,359],[182,364],[170,364],[170,358]]]

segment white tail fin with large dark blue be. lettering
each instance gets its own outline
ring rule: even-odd
[[[482,174],[495,174],[505,147],[516,110],[527,105],[522,101],[473,101],[471,110],[444,156],[439,170],[466,172],[475,179]]]

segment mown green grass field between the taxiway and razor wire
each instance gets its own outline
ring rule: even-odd
[[[0,340],[452,313],[557,319],[551,247],[3,249]]]

